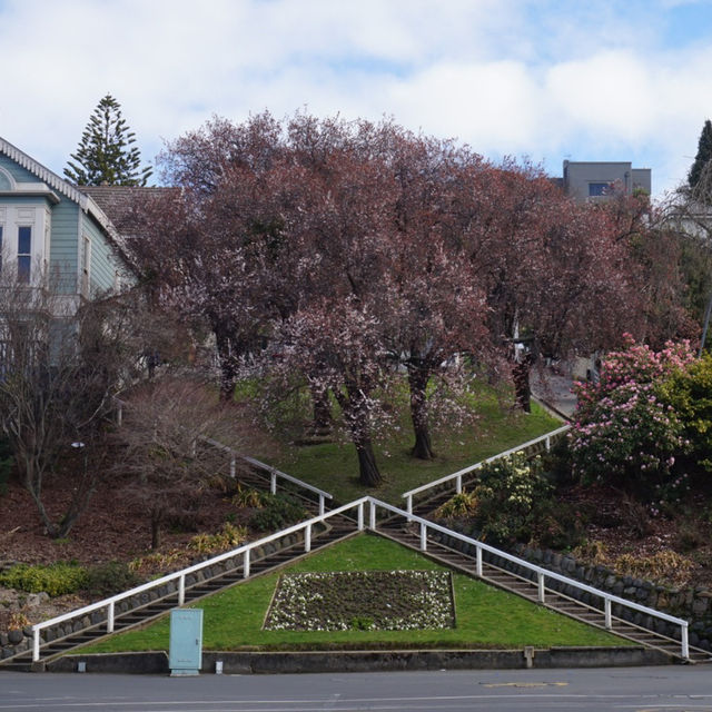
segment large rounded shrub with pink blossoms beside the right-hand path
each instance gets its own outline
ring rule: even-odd
[[[597,384],[575,384],[570,447],[575,474],[584,481],[615,482],[650,497],[689,444],[662,386],[695,358],[688,342],[654,352],[625,338],[626,347],[603,362]]]

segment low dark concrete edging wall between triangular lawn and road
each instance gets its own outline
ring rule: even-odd
[[[392,650],[316,652],[205,652],[204,674],[287,674],[319,672],[395,672],[418,670],[521,670],[526,668],[624,668],[669,665],[657,650],[625,647],[550,647],[524,650]],[[216,665],[216,663],[221,663]],[[65,655],[44,665],[46,672],[169,674],[165,651]]]

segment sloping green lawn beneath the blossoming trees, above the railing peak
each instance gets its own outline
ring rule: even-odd
[[[350,444],[325,443],[291,447],[289,457],[274,465],[329,492],[336,502],[352,502],[369,494],[403,506],[400,495],[404,492],[474,465],[485,457],[562,425],[561,421],[551,417],[536,403],[532,404],[531,414],[512,413],[502,408],[494,392],[481,394],[475,405],[481,418],[476,431],[451,437],[434,437],[437,457],[433,461],[411,457],[413,436],[408,428],[404,428],[398,438],[382,444],[380,448],[376,445],[376,459],[384,476],[384,482],[378,487],[365,490],[358,483],[358,462]]]

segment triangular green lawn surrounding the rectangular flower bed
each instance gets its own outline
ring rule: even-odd
[[[376,535],[360,534],[287,567],[289,572],[441,570],[435,562]],[[455,574],[454,629],[416,631],[264,631],[277,573],[259,576],[199,602],[205,650],[329,650],[369,647],[523,647],[626,645],[518,596]],[[168,650],[169,619],[117,634],[85,652]]]

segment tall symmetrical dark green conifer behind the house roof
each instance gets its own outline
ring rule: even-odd
[[[145,186],[152,170],[140,167],[134,144],[136,136],[121,116],[121,106],[108,93],[93,110],[65,176],[79,186]]]

